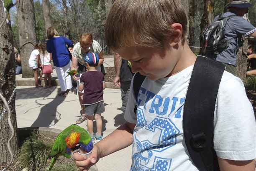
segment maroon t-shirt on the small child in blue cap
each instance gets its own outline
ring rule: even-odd
[[[83,105],[91,105],[103,101],[104,75],[100,71],[87,71],[80,78],[84,84]]]

